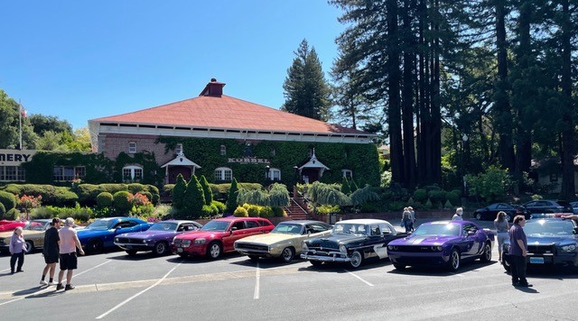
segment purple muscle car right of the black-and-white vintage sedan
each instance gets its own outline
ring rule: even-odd
[[[397,270],[406,266],[445,266],[458,271],[461,261],[491,261],[495,235],[469,221],[424,223],[406,238],[387,245],[389,260]]]

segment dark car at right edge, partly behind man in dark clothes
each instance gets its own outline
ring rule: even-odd
[[[578,268],[578,225],[561,217],[539,218],[526,222],[527,264],[529,266],[560,265]],[[509,240],[504,243],[502,265],[508,263]]]

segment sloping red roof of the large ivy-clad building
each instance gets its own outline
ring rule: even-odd
[[[93,119],[91,122],[191,126],[283,133],[369,134],[225,95],[198,96],[132,113],[101,117]]]

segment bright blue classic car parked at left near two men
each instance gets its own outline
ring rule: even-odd
[[[100,218],[78,231],[79,241],[87,254],[103,252],[116,246],[115,236],[129,232],[146,231],[151,224],[135,217]]]

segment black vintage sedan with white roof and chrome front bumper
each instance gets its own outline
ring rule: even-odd
[[[322,262],[344,262],[357,269],[365,260],[387,258],[387,243],[406,235],[383,220],[340,221],[333,226],[331,236],[304,241],[301,258],[309,260],[313,266],[320,266]]]

